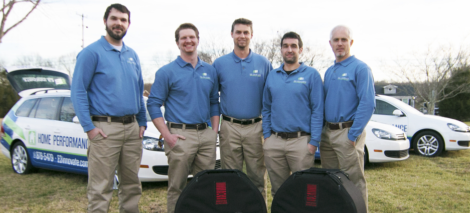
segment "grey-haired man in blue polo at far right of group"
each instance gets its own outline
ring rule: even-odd
[[[364,128],[375,108],[372,71],[351,56],[351,29],[336,26],[330,33],[335,64],[325,73],[325,127],[320,143],[323,168],[339,168],[362,192],[367,202],[364,176]]]

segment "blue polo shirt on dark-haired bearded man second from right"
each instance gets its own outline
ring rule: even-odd
[[[309,144],[320,143],[323,126],[323,83],[314,68],[303,62],[290,75],[284,63],[269,73],[263,93],[263,135],[304,131],[311,134]]]

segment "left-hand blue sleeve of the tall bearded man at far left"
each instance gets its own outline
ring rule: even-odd
[[[96,65],[97,59],[94,54],[87,49],[82,50],[77,56],[70,88],[75,114],[85,132],[95,128],[90,117],[87,90],[93,79]]]

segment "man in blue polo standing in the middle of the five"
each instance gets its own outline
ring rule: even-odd
[[[271,63],[250,50],[253,23],[237,19],[232,24],[233,52],[214,61],[220,90],[220,159],[222,168],[243,170],[266,202],[266,165],[263,153],[261,108]]]

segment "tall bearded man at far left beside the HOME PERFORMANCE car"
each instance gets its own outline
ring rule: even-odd
[[[71,98],[87,133],[88,212],[107,212],[115,170],[119,177],[119,211],[139,212],[137,173],[146,129],[143,80],[137,54],[122,38],[130,12],[114,4],[104,14],[106,36],[77,56]]]

